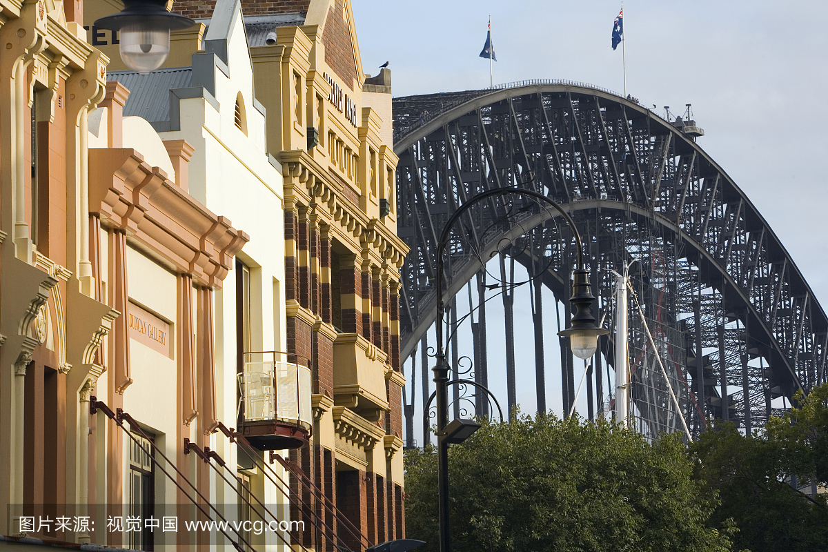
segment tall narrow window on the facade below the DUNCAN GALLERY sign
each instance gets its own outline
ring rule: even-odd
[[[145,527],[143,520],[155,517],[155,453],[152,449],[154,439],[146,439],[135,432],[132,432],[132,436],[136,440],[130,439],[129,447],[128,516],[140,519],[142,527],[140,531],[128,533],[129,547],[133,550],[153,550],[153,528]]]

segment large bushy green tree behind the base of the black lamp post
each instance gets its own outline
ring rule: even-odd
[[[436,454],[409,450],[406,463],[407,535],[436,551]],[[678,435],[649,444],[604,421],[518,416],[452,446],[449,473],[458,552],[730,550],[705,526],[715,494],[691,478]]]

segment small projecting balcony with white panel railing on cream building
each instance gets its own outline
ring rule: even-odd
[[[310,368],[287,353],[244,353],[238,373],[238,431],[259,450],[300,449],[310,439]]]

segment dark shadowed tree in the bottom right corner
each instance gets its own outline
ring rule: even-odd
[[[696,478],[720,492],[710,524],[732,520],[737,550],[828,550],[828,495],[809,496],[811,482],[828,484],[828,385],[795,400],[798,408],[761,432],[744,436],[719,422],[691,445]]]

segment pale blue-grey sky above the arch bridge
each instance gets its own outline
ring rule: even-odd
[[[489,85],[479,53],[492,17],[494,84],[570,79],[623,92],[616,0],[353,0],[363,68],[390,61],[395,97]],[[828,306],[828,2],[628,0],[627,92],[682,114],[698,144],[768,221]],[[556,341],[556,340],[555,340]],[[554,358],[554,357],[552,357]],[[490,364],[491,365],[491,364]]]

